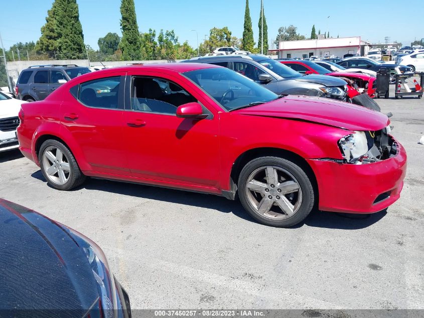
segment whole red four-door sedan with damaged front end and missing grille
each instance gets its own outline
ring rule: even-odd
[[[211,64],[126,66],[22,104],[22,153],[56,189],[86,176],[234,199],[288,227],[313,206],[374,213],[399,198],[406,153],[378,112],[276,95]]]

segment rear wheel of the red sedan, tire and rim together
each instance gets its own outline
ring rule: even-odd
[[[49,139],[41,145],[39,162],[47,183],[57,190],[70,190],[85,181],[71,151],[57,140]]]

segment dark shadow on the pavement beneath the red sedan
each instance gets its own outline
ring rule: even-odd
[[[46,182],[41,170],[34,172],[31,176]],[[231,201],[222,196],[92,178],[87,179],[82,186],[75,190],[84,188],[87,190],[104,191],[215,209],[222,213],[232,213],[243,220],[257,224],[257,222],[246,213],[239,200]],[[358,230],[371,226],[381,220],[386,214],[386,210],[371,215],[339,214],[313,210],[304,222],[291,229],[301,228],[306,225],[317,228]]]

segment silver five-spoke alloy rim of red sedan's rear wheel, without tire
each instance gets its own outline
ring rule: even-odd
[[[46,148],[43,153],[43,168],[51,182],[59,185],[68,182],[71,174],[69,159],[58,147]]]

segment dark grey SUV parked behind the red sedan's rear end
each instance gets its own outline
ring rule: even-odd
[[[15,86],[18,99],[43,100],[60,85],[71,78],[90,73],[88,67],[68,65],[34,65],[23,70]]]

